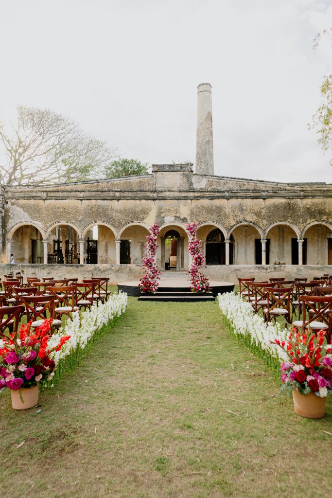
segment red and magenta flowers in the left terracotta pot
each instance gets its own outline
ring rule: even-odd
[[[0,389],[28,388],[51,380],[55,363],[50,354],[60,351],[71,337],[61,337],[59,344],[49,350],[52,319],[44,320],[36,330],[30,329],[30,323],[22,324],[18,334],[0,340]]]

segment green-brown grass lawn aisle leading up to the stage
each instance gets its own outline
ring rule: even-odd
[[[0,396],[0,496],[330,497],[331,400],[311,421],[278,389],[217,301],[129,298],[41,413]]]

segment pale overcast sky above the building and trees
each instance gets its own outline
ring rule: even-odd
[[[126,157],[195,163],[210,82],[215,174],[332,182],[307,126],[331,26],[332,0],[1,1],[0,117],[47,107]]]

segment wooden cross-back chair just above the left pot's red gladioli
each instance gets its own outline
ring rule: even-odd
[[[62,325],[61,320],[55,319],[54,316],[54,301],[56,296],[54,294],[47,296],[21,296],[21,301],[25,305],[27,321],[31,323],[31,327],[36,329],[40,327],[45,317],[52,319],[51,333]]]

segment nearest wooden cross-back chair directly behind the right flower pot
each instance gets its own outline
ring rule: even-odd
[[[315,334],[320,330],[327,333],[328,343],[331,343],[332,296],[300,296],[302,306],[302,320],[293,322],[294,327],[303,332],[312,330]],[[308,312],[307,312],[308,310]]]

